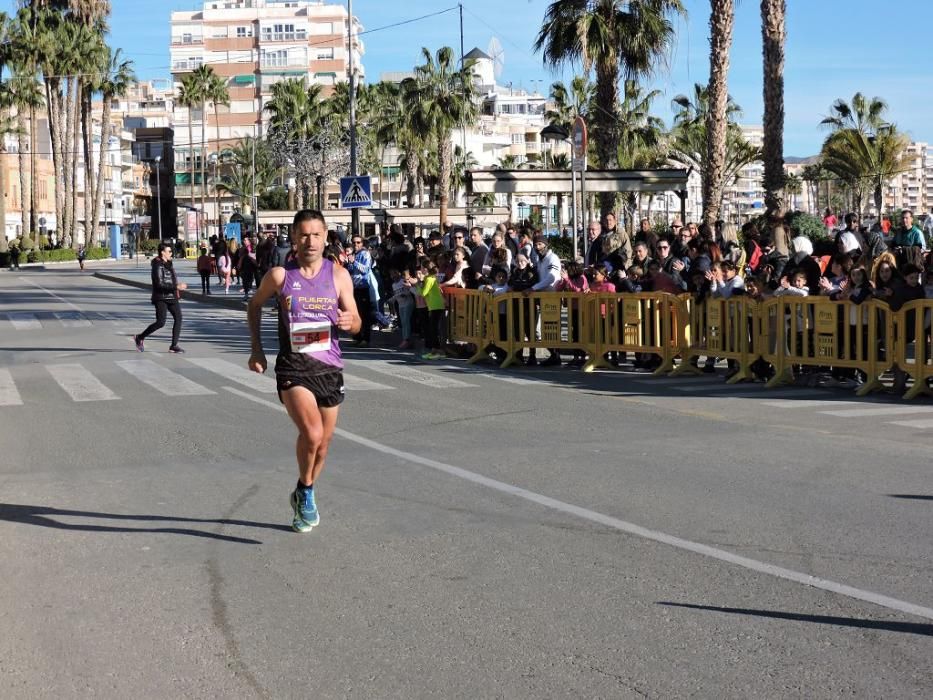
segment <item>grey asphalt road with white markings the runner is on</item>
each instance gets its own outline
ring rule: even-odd
[[[0,696],[933,695],[929,401],[383,335],[297,535],[243,312],[184,313],[0,272]]]

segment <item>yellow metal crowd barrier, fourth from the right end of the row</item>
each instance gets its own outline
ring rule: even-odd
[[[687,308],[682,300],[663,292],[640,294],[588,294],[581,337],[591,344],[583,371],[611,367],[608,352],[659,355],[654,374],[666,374],[674,357],[686,346]]]

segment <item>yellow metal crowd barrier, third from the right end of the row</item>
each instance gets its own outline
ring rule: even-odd
[[[738,369],[729,378],[729,384],[753,379],[751,366],[761,355],[762,342],[757,302],[736,296],[707,298],[702,303],[690,299],[683,303],[689,313],[689,341],[672,376],[698,374],[699,368],[690,360],[705,355],[737,363]]]

